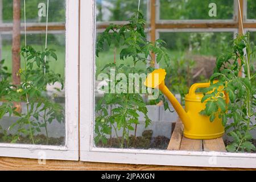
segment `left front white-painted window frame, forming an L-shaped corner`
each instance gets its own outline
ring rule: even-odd
[[[0,156],[79,160],[79,0],[66,0],[65,146],[0,143]]]

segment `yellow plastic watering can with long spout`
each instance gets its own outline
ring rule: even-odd
[[[204,95],[203,93],[197,93],[196,89],[207,88],[210,86],[210,83],[198,83],[191,86],[189,93],[185,96],[184,110],[179,101],[176,100],[174,95],[164,84],[165,77],[166,71],[164,69],[156,69],[147,76],[144,85],[150,88],[156,88],[158,86],[159,90],[161,90],[168,100],[170,100],[172,106],[174,106],[174,109],[183,122],[184,137],[191,139],[214,139],[222,137],[224,134],[224,126],[222,126],[221,119],[218,118],[218,115],[216,115],[213,122],[210,122],[207,115],[200,114],[200,111],[205,109],[207,101],[201,103],[201,99]],[[223,96],[223,99],[226,102],[229,102],[226,94],[225,96]]]

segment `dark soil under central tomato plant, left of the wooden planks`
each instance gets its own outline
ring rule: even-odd
[[[131,135],[129,137],[129,144],[127,146],[127,140],[124,142],[124,148],[137,148],[137,149],[159,149],[166,150],[170,142],[170,138],[164,136],[152,137],[152,130],[145,130],[142,133],[142,137],[134,137]],[[108,143],[98,143],[97,147],[105,148],[120,148],[121,137],[119,138],[110,138]]]

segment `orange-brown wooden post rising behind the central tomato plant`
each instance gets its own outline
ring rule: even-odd
[[[155,42],[156,0],[150,1],[150,41]],[[152,53],[151,67],[155,67],[155,54]]]

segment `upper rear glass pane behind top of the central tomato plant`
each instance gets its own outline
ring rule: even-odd
[[[141,1],[141,11],[147,15],[148,0]],[[138,0],[97,0],[97,21],[125,21],[138,10]]]

